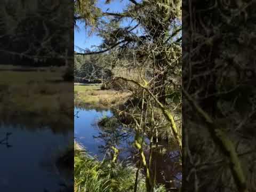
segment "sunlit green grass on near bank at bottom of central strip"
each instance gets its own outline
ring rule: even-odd
[[[75,145],[76,147],[77,145]],[[75,152],[75,192],[132,192],[137,169],[131,164],[98,161],[82,151]],[[137,192],[146,192],[145,179],[139,174]],[[155,192],[166,191],[163,186]]]

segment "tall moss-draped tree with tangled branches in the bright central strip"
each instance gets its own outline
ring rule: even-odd
[[[121,75],[114,80],[133,84],[133,90],[137,93],[133,96],[141,101],[141,105],[137,103],[132,105],[131,110],[125,110],[133,119],[133,124],[129,126],[134,126],[137,132],[134,143],[141,157],[141,166],[146,170],[147,191],[151,192],[155,187],[155,170],[151,161],[152,153],[145,159],[141,139],[145,132],[151,135],[150,151],[153,150],[153,137],[158,138],[159,130],[165,132],[164,124],[167,125],[164,133],[167,140],[173,137],[180,151],[182,148],[180,129],[176,126],[180,120],[174,119],[173,115],[177,112],[180,117],[177,108],[180,108],[181,100],[181,1],[127,0],[126,3],[127,6],[120,12],[103,12],[91,2],[89,6],[93,9],[89,9],[91,12],[85,17],[83,13],[88,10],[79,9],[86,6],[77,6],[76,18],[92,25],[103,41],[97,51],[85,50],[76,54],[108,53],[113,55],[113,62],[110,62],[112,69],[136,69],[137,79]],[[178,98],[177,101],[174,101],[175,98]],[[162,113],[161,121],[156,117],[156,108]],[[136,185],[135,182],[134,191]]]

